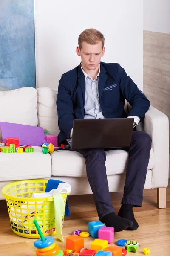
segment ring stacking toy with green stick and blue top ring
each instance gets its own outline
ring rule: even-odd
[[[36,220],[34,220],[34,224],[37,228],[37,231],[40,235],[40,239],[37,239],[34,242],[34,246],[37,248],[36,255],[37,256],[63,256],[62,250],[60,250],[59,246],[55,244],[55,240],[52,236],[44,236],[40,230],[40,227]]]

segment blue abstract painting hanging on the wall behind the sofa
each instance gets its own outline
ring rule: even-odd
[[[34,0],[0,0],[0,90],[35,87]]]

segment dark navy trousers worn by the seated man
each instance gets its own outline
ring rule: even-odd
[[[143,131],[133,131],[131,144],[127,149],[129,158],[122,204],[142,206],[150,149],[150,136]],[[115,212],[108,189],[105,149],[77,149],[75,151],[83,154],[85,158],[88,181],[101,220],[108,213]]]

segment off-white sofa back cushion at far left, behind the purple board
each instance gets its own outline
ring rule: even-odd
[[[1,122],[37,126],[37,90],[33,87],[0,91],[0,105]]]

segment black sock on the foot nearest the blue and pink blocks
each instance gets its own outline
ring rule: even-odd
[[[101,222],[104,223],[106,227],[114,227],[114,232],[125,230],[133,224],[133,221],[121,218],[114,212],[105,215]]]

